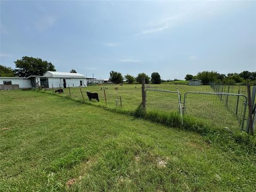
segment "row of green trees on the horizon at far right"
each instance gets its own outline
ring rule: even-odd
[[[199,79],[203,85],[208,85],[210,82],[224,83],[224,84],[236,84],[236,83],[256,83],[256,71],[242,71],[241,73],[228,73],[219,74],[217,71],[202,71],[193,76],[187,74],[185,80]]]

